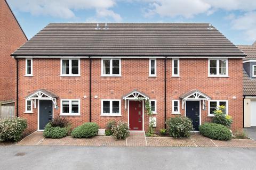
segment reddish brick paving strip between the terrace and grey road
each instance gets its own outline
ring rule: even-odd
[[[52,146],[150,146],[150,147],[256,147],[256,141],[250,139],[231,139],[218,141],[191,135],[190,138],[175,139],[171,137],[145,137],[144,132],[130,132],[125,140],[115,140],[114,137],[97,136],[89,139],[44,138],[43,132],[35,132],[24,138],[17,145],[52,145]]]

